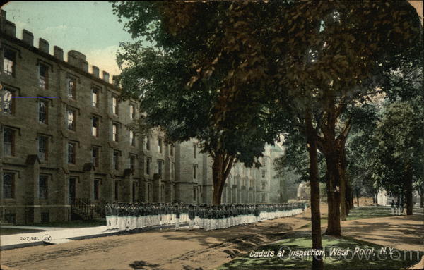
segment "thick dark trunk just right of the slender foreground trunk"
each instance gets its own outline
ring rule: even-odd
[[[340,192],[336,188],[339,176],[337,167],[336,154],[334,154],[334,152],[326,154],[326,170],[328,176],[326,187],[329,221],[325,234],[340,236]]]

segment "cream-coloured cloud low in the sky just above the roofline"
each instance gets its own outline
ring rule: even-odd
[[[102,49],[94,49],[91,51],[86,51],[87,62],[88,64],[98,66],[101,70],[104,70],[110,75],[119,75],[120,71],[116,61],[116,54],[119,47],[117,45],[112,45]]]

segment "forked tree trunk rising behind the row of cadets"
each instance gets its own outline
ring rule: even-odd
[[[212,164],[212,182],[213,182],[213,195],[212,204],[220,205],[225,180],[227,180],[228,174],[232,168],[234,157],[226,154],[215,154],[213,156]]]

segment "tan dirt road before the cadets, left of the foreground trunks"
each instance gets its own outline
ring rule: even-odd
[[[299,215],[212,232],[150,231],[25,247],[2,251],[1,264],[22,270],[213,269],[308,222]]]

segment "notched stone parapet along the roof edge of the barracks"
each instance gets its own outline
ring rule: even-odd
[[[0,31],[3,34],[8,35],[9,37],[16,37],[16,25],[15,23],[12,23],[9,20],[6,20],[6,11],[1,10],[1,18],[0,18]],[[45,54],[49,54],[49,42],[45,39],[40,38],[38,40],[38,47],[34,47],[34,35],[32,32],[23,29],[22,30],[22,39],[20,39],[23,43],[27,44],[30,47],[33,47],[35,49],[38,49],[42,51]],[[50,54],[49,54],[50,55]],[[64,51],[60,47],[54,46],[54,52],[52,55],[55,59],[59,61],[64,61]],[[89,73],[88,71],[88,62],[86,61],[86,55],[82,54],[79,51],[71,50],[68,51],[68,61],[66,63],[69,63],[71,66],[74,66],[75,68],[78,68],[79,70]],[[100,70],[97,66],[92,66],[91,68],[92,73],[89,73],[90,75],[93,75],[95,78],[100,78]],[[107,71],[102,71],[102,80],[110,83],[110,75]]]

